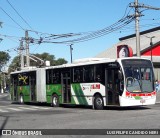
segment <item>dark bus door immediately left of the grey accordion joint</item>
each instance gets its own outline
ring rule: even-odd
[[[29,86],[30,86],[30,98],[31,101],[36,101],[36,74],[35,72],[31,72],[29,78]]]

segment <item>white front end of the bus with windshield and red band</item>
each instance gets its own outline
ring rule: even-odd
[[[151,105],[156,102],[153,65],[141,58],[118,59],[122,66],[120,106]]]

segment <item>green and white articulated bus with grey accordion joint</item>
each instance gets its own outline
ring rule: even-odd
[[[104,106],[155,104],[153,65],[142,58],[83,59],[11,73],[13,102]]]

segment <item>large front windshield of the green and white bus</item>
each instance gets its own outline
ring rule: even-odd
[[[153,92],[153,70],[149,60],[128,60],[124,65],[126,89],[129,92]]]

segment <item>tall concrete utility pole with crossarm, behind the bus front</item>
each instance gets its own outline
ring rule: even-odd
[[[141,57],[141,53],[140,53],[140,32],[139,32],[139,17],[142,16],[141,12],[139,11],[139,8],[145,8],[145,9],[152,9],[152,10],[160,10],[160,8],[156,8],[156,7],[152,7],[152,6],[148,6],[145,4],[140,4],[138,3],[138,0],[135,0],[134,3],[130,4],[130,7],[134,7],[135,8],[135,32],[136,32],[136,53],[137,53],[137,57]]]

